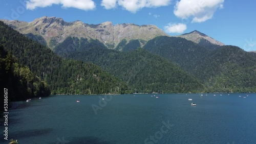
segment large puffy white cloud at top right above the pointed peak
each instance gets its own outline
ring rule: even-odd
[[[203,22],[211,19],[215,11],[223,8],[225,0],[180,0],[176,3],[174,14],[186,19],[193,17],[192,22]]]

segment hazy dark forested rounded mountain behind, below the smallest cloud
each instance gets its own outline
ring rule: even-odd
[[[143,48],[176,63],[187,71],[191,71],[198,60],[210,53],[208,49],[192,41],[167,36],[156,37],[148,41]]]

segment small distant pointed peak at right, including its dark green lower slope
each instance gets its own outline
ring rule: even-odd
[[[182,37],[187,40],[198,43],[199,45],[209,47],[209,48],[225,45],[224,43],[217,41],[214,38],[211,38],[197,30],[190,32],[190,33],[185,33],[185,34],[182,34],[182,35],[179,35],[176,37]]]

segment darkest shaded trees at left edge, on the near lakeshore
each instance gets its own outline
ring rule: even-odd
[[[16,58],[0,44],[0,83],[8,89],[10,101],[46,97],[50,90],[45,81],[35,76],[30,69],[20,66]]]

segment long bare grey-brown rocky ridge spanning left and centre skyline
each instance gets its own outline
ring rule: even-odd
[[[2,21],[22,34],[29,34],[30,38],[34,35],[36,39],[44,39],[52,49],[68,37],[84,38],[88,41],[98,40],[109,49],[116,49],[117,45],[124,40],[126,43],[130,40],[139,40],[140,46],[143,46],[146,41],[156,36],[167,36],[154,25],[138,26],[122,23],[114,26],[110,21],[89,25],[81,21],[66,22],[62,18],[47,16],[31,22],[4,19]]]

